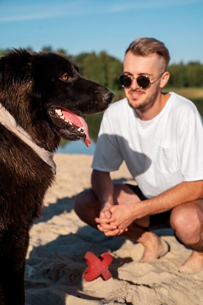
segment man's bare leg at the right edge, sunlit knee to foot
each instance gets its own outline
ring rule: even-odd
[[[179,268],[180,272],[193,273],[203,270],[203,199],[174,208],[170,217],[171,227],[178,238],[193,248],[193,252]]]

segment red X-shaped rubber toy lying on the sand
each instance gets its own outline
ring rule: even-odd
[[[104,281],[107,281],[112,277],[109,266],[113,261],[113,257],[110,253],[105,252],[97,257],[94,253],[88,251],[84,255],[84,259],[89,265],[82,274],[85,281],[91,282],[97,279],[100,275]]]

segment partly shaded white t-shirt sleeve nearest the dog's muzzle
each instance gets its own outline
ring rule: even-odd
[[[119,169],[123,156],[119,150],[118,136],[115,133],[116,122],[106,111],[101,122],[92,168],[101,172],[112,172]]]

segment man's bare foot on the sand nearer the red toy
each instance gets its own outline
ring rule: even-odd
[[[154,234],[153,232],[145,232],[138,242],[145,247],[141,263],[148,263],[164,256],[169,251],[169,246],[165,240]]]

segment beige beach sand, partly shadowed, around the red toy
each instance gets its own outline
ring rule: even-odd
[[[203,271],[178,272],[191,249],[171,229],[157,230],[170,252],[152,263],[139,263],[143,247],[131,240],[107,238],[73,210],[75,196],[90,187],[92,156],[56,154],[56,180],[44,201],[44,215],[30,231],[25,270],[26,305],[201,305]],[[114,182],[134,183],[123,164]],[[112,278],[86,282],[87,251],[110,252]]]

